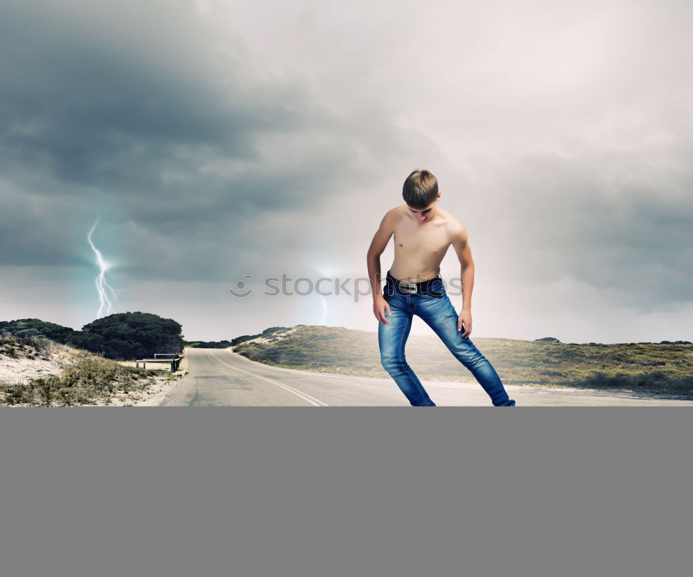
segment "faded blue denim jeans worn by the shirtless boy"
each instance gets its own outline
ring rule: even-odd
[[[387,275],[393,278],[389,271]],[[383,369],[394,379],[412,406],[436,406],[407,364],[404,354],[412,319],[416,314],[441,338],[450,353],[471,371],[489,394],[495,407],[514,407],[515,401],[508,397],[489,360],[479,352],[469,337],[462,337],[462,332],[457,330],[457,311],[445,292],[442,279],[435,281],[431,288],[441,296],[407,294],[396,289],[388,290],[387,287],[383,290],[383,298],[390,308],[390,314],[387,311],[385,313],[388,324],[378,323],[378,344]]]

